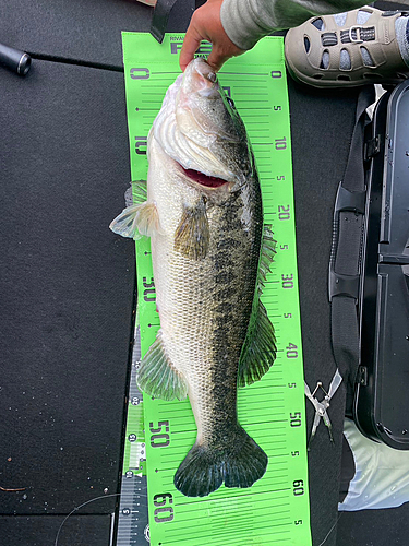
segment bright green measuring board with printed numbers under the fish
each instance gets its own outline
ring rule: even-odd
[[[180,73],[178,54],[183,37],[168,34],[159,45],[149,34],[122,34],[133,180],[146,180],[147,134],[168,86]],[[197,55],[206,57],[208,52],[209,45],[203,45]],[[262,185],[264,221],[272,224],[277,239],[277,254],[262,298],[275,325],[277,359],[261,381],[238,393],[239,420],[267,453],[268,467],[263,478],[248,489],[221,486],[208,497],[184,497],[175,488],[173,475],[195,441],[190,403],[145,396],[142,404],[141,393],[131,384],[118,545],[124,546],[121,541],[140,545],[148,538],[154,546],[311,545],[282,38],[264,38],[245,55],[230,59],[219,72],[219,82],[234,100],[248,129]],[[159,328],[146,238],[136,242],[136,266],[143,356]],[[132,381],[137,365],[136,358]],[[132,486],[125,490],[127,483]],[[148,529],[144,523],[146,506]],[[127,518],[133,522],[128,527],[123,523]]]

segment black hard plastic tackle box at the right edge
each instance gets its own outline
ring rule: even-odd
[[[366,205],[353,418],[409,449],[409,81],[382,96],[366,128]]]

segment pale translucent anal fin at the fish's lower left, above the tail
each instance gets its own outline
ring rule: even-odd
[[[184,400],[188,395],[188,383],[169,360],[160,330],[142,359],[136,382],[141,390],[156,399]]]

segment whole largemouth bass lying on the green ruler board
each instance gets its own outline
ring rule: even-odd
[[[189,395],[195,444],[176,487],[202,497],[250,487],[267,455],[240,426],[237,389],[268,371],[274,329],[260,301],[275,241],[244,124],[216,74],[195,59],[166,93],[148,136],[147,191],[111,229],[151,236],[160,329],[137,376],[147,394]]]

